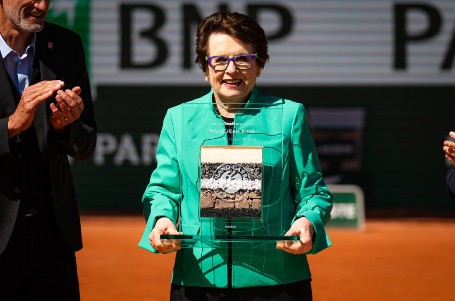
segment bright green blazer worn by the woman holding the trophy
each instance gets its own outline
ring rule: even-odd
[[[201,145],[227,145],[228,140],[221,117],[211,108],[212,95],[210,91],[166,113],[156,155],[158,165],[142,200],[147,225],[140,247],[157,252],[148,240],[157,217],[167,217],[174,224],[180,219],[184,234],[206,234],[213,229],[212,222],[199,218],[199,151]],[[296,219],[306,217],[315,231],[310,253],[327,248],[331,242],[325,225],[330,220],[332,195],[322,178],[305,108],[261,95],[257,87],[245,108],[235,116],[233,145],[263,146],[262,228],[273,235],[284,234]],[[242,127],[236,131],[238,124]],[[248,126],[254,130],[240,130]],[[172,283],[227,287],[227,258],[228,250],[223,248],[178,250]],[[306,255],[275,248],[234,248],[232,263],[233,287],[278,285],[311,277]]]

